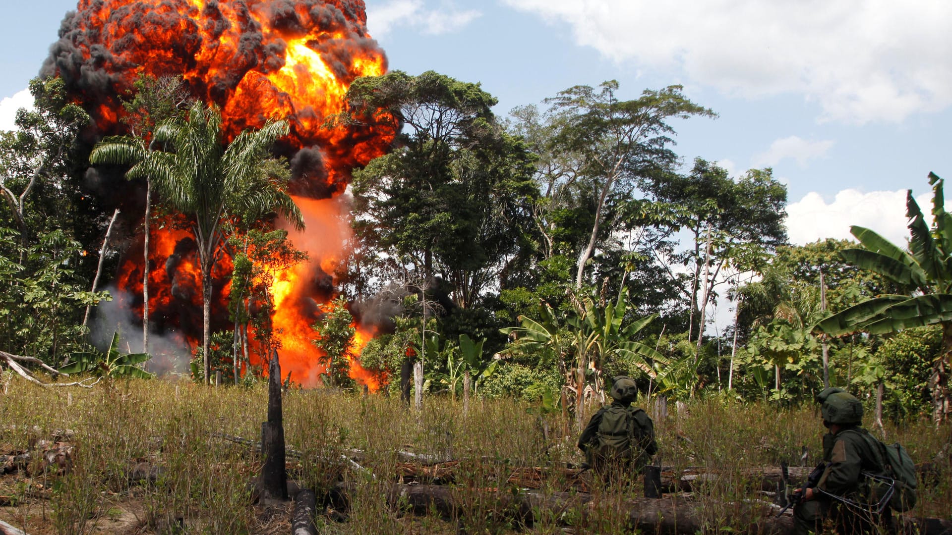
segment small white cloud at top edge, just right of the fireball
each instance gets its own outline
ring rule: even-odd
[[[375,37],[407,27],[439,35],[460,30],[481,15],[478,10],[460,10],[446,1],[438,9],[427,9],[424,0],[389,0],[367,6],[367,30]]]

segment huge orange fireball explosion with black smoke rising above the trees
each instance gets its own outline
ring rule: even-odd
[[[69,95],[93,117],[97,136],[125,133],[121,99],[140,74],[180,76],[192,96],[222,109],[228,139],[269,119],[288,120],[290,135],[276,150],[290,159],[290,192],[307,223],[303,233],[288,230],[310,260],[275,278],[273,324],[285,372],[315,386],[323,367],[310,325],[333,298],[334,268],[351,238],[347,211],[336,197],[350,170],[383,154],[395,135],[324,123],[344,110],[354,79],[386,70],[384,51],[367,34],[362,0],[81,0],[64,19],[41,74],[64,79]],[[126,188],[122,177],[105,180],[111,183],[100,185],[103,190]],[[201,277],[194,242],[188,231],[164,228],[153,231],[151,244],[150,320],[155,329],[179,331],[194,344],[201,337],[201,327],[195,331],[201,326],[195,321],[201,318]],[[117,281],[120,301],[141,318],[141,241],[138,253],[135,248]],[[215,330],[228,328],[230,269],[226,260],[214,274]],[[376,389],[357,361],[370,331],[358,329],[351,375]]]

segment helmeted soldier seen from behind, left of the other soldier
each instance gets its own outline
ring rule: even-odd
[[[585,461],[596,473],[611,480],[640,473],[658,451],[654,425],[645,410],[631,406],[638,386],[625,375],[615,377],[611,405],[592,415],[579,437]]]

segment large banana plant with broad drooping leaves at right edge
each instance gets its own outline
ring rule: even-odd
[[[903,328],[942,326],[942,348],[932,365],[932,417],[936,425],[947,421],[950,406],[949,353],[952,352],[952,214],[945,211],[943,181],[929,173],[933,188],[932,227],[922,209],[906,193],[909,218],[909,248],[900,248],[876,232],[852,227],[863,248],[843,250],[847,262],[874,271],[904,288],[903,294],[870,298],[825,318],[817,327],[830,336],[856,331],[870,334],[897,332]]]

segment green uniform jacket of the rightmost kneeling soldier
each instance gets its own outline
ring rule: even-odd
[[[883,473],[883,456],[875,439],[860,426],[840,429],[823,436],[823,460],[826,469],[817,487],[837,496],[863,494],[867,489],[860,472]]]

